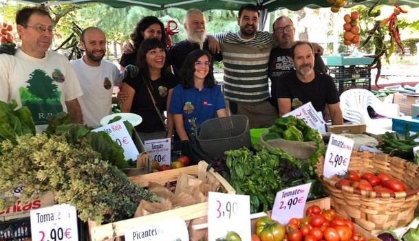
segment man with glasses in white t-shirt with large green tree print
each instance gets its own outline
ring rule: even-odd
[[[28,106],[36,131],[46,128],[45,117],[61,111],[83,123],[77,97],[83,93],[76,73],[65,56],[48,51],[54,35],[50,14],[27,7],[16,14],[21,47],[14,56],[0,54],[0,100]]]

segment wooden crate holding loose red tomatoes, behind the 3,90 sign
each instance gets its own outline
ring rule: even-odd
[[[330,197],[320,198],[320,199],[312,200],[305,203],[304,213],[305,213],[305,210],[308,209],[308,207],[311,207],[312,205],[317,205],[321,209],[330,209]],[[255,233],[255,224],[256,224],[257,219],[263,216],[270,216],[270,214],[271,212],[268,211],[267,213],[261,212],[257,214],[252,214],[250,216],[251,218],[250,227],[252,229],[252,233]],[[365,236],[366,240],[374,239],[374,240],[380,241],[380,239],[374,237],[371,233],[368,233],[368,231],[359,227],[356,224],[355,224],[355,231],[358,233],[362,233]],[[208,224],[206,223],[206,217],[201,218],[200,220],[193,220],[193,223],[191,223],[189,227],[189,236],[191,238],[191,241],[198,241],[201,238],[206,237],[207,233],[208,233]]]

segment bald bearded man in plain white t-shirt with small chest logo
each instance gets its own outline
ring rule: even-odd
[[[105,34],[98,27],[87,27],[80,40],[85,55],[71,64],[80,80],[83,96],[78,97],[83,124],[100,126],[100,119],[111,113],[112,89],[122,82],[123,74],[116,65],[103,60],[106,51]]]

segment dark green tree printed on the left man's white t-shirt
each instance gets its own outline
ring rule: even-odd
[[[62,74],[61,74],[62,75]],[[53,98],[56,95],[57,87],[54,80],[45,73],[42,69],[35,69],[30,73],[30,78],[26,81],[28,91],[42,99],[45,103],[47,99]]]

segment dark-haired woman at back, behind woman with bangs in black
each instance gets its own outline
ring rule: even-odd
[[[122,54],[119,62],[121,71],[125,71],[127,65],[135,65],[137,51],[144,39],[157,38],[162,43],[166,43],[167,38],[163,23],[155,16],[144,16],[129,37],[133,43],[134,51],[131,54]]]

